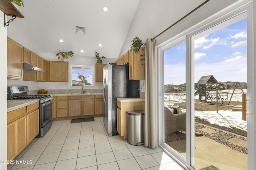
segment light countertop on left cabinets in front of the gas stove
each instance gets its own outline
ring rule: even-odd
[[[7,100],[7,112],[39,102],[39,99]]]

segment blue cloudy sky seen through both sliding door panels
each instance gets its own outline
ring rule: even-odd
[[[195,82],[213,75],[220,82],[246,80],[246,19],[195,40]],[[164,84],[186,80],[186,43],[164,51]]]

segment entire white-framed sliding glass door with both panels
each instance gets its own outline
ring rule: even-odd
[[[247,13],[228,14],[158,47],[159,143],[184,167],[245,170],[253,164]]]

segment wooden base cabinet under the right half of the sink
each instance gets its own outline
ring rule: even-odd
[[[83,115],[94,115],[94,95],[83,96]]]

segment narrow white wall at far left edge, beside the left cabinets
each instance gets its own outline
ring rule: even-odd
[[[0,160],[7,158],[7,27],[4,27],[4,13],[0,11]],[[6,164],[0,164],[0,170],[7,169]]]

